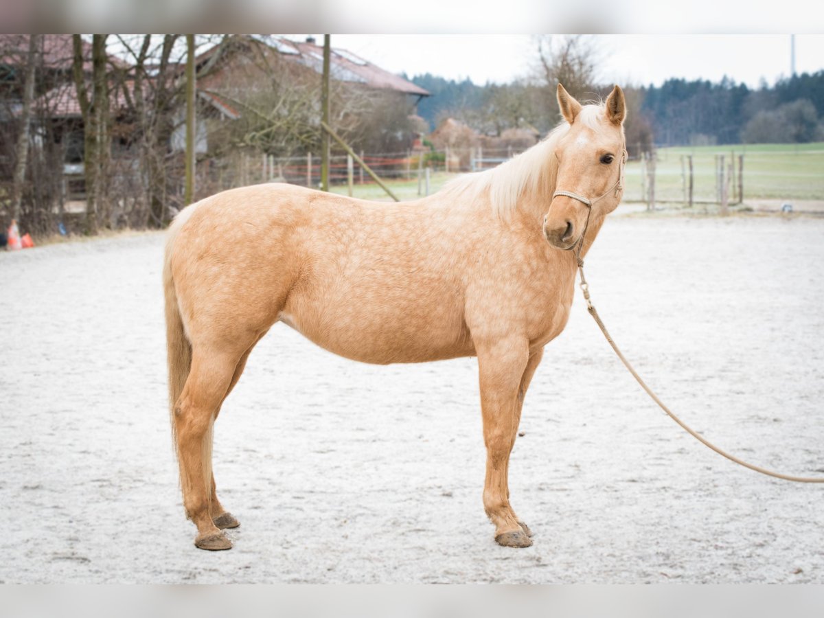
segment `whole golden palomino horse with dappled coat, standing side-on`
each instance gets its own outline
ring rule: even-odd
[[[624,94],[489,171],[405,204],[292,185],[224,191],[185,208],[166,242],[171,424],[194,544],[225,550],[236,527],[212,474],[212,431],[249,353],[282,321],[366,363],[477,356],[495,541],[532,544],[509,504],[523,398],[572,304],[586,254],[621,197]]]

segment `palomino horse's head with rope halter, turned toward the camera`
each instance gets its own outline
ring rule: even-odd
[[[582,240],[589,218],[605,217],[620,202],[626,103],[616,86],[606,104],[583,107],[558,84],[558,105],[569,131],[555,150],[558,176],[544,235],[552,246],[569,250]]]

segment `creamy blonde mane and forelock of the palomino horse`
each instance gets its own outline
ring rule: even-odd
[[[584,105],[576,121],[597,130],[604,105]],[[569,123],[562,122],[536,143],[535,146],[503,162],[491,170],[466,174],[451,180],[443,188],[447,194],[462,195],[467,203],[486,198],[498,218],[508,219],[520,200],[525,197],[546,196],[555,192],[558,159],[554,156],[558,142],[569,131]]]

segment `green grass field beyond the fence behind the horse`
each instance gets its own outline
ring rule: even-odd
[[[715,156],[723,154],[728,165],[744,155],[744,202],[747,199],[824,200],[824,143],[807,144],[737,144],[733,146],[672,147],[658,150],[656,164],[656,201],[683,204],[684,181],[681,157],[693,157],[693,199],[695,203],[714,203]],[[439,190],[456,174],[436,172],[430,181],[430,193]],[[639,161],[626,166],[625,202],[644,201],[642,168]],[[737,178],[737,176],[736,176]],[[737,180],[736,180],[737,184]],[[391,190],[403,201],[418,199],[418,180],[387,180]],[[338,194],[347,194],[346,185],[334,186]],[[731,190],[732,191],[732,190]],[[375,183],[354,186],[354,196],[362,199],[391,201]],[[731,193],[732,201],[732,193]]]

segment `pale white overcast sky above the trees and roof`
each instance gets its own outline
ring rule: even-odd
[[[298,38],[299,35],[290,35]],[[322,42],[322,35],[316,35]],[[790,73],[790,35],[594,35],[604,82],[660,85],[668,77],[719,81],[727,75],[758,87]],[[473,82],[510,82],[536,58],[533,35],[332,35],[393,73],[433,73]],[[797,73],[824,69],[824,35],[796,35]]]

